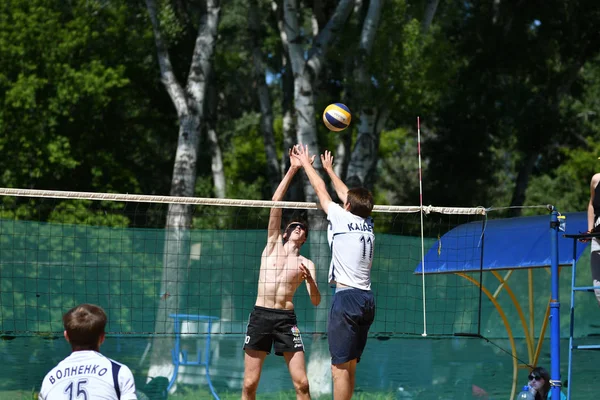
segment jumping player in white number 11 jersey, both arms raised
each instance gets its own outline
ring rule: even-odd
[[[329,220],[329,282],[336,285],[327,324],[333,396],[335,400],[349,400],[354,392],[356,364],[375,319],[375,298],[371,292],[373,196],[365,188],[348,190],[333,170],[331,152],[325,151],[321,162],[343,203],[340,207],[331,200],[325,182],[310,163],[308,146],[296,146],[293,156],[304,167]]]

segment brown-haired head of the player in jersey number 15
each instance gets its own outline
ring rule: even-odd
[[[67,311],[63,325],[73,351],[98,351],[98,341],[104,335],[106,320],[104,310],[94,304],[80,304]]]

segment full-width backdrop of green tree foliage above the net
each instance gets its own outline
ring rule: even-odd
[[[434,15],[428,1],[371,0],[342,11],[343,3],[296,2],[290,37],[284,1],[220,2],[195,195],[217,193],[210,160],[218,143],[226,196],[269,199],[286,146],[316,129],[312,150],[332,150],[353,171],[372,168],[353,164],[352,154],[371,135],[376,152],[361,154],[375,168],[361,183],[378,203],[417,204],[419,116],[426,204],[585,209],[600,162],[594,1],[449,1]],[[169,0],[157,7],[184,82],[207,9]],[[304,61],[290,59],[290,49]],[[5,1],[0,185],[168,194],[179,120],[156,57],[142,2]],[[290,85],[294,62],[308,68],[308,114],[297,103],[308,80]],[[320,123],[331,102],[353,111],[342,133]]]

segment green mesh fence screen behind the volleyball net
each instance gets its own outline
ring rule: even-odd
[[[189,232],[185,254],[180,257],[178,279],[181,289],[177,313],[217,318],[211,334],[210,375],[221,398],[239,398],[243,375],[241,350],[247,315],[256,300],[260,255],[266,240],[264,213],[260,218],[240,218],[254,229],[202,229]],[[401,221],[399,221],[401,220]],[[421,254],[421,240],[410,228],[415,216],[379,217],[373,289],[377,300],[372,339],[359,365],[357,396],[362,398],[472,398],[473,385],[488,398],[507,398],[512,380],[512,358],[506,330],[497,312],[479,289],[456,275],[430,275],[425,279],[428,338],[423,331],[422,277],[415,275]],[[431,227],[425,249],[438,232],[467,221],[445,221]],[[236,224],[232,224],[236,225]],[[45,373],[66,357],[69,347],[62,339],[63,313],[91,302],[101,305],[109,316],[109,337],[102,350],[109,357],[126,362],[144,388],[151,364],[149,349],[158,341],[172,343],[172,335],[157,330],[157,313],[171,294],[162,291],[165,230],[150,228],[109,228],[65,223],[0,220],[0,400],[32,398]],[[299,327],[307,348],[307,364],[313,398],[331,398],[327,379],[327,309],[331,289],[327,285],[329,249],[322,231],[311,231],[302,253],[317,265],[317,281],[323,301],[317,308],[300,287],[294,299]],[[589,258],[579,268],[588,279]],[[563,301],[561,326],[568,336],[569,275],[561,276]],[[517,271],[511,285],[523,299],[527,291],[525,271]],[[535,305],[543,309],[549,298],[550,277],[535,270]],[[475,276],[475,275],[474,275]],[[478,279],[476,274],[475,279]],[[484,275],[483,284],[494,278]],[[498,301],[507,317],[517,321],[507,296]],[[583,304],[582,304],[583,303]],[[598,312],[595,300],[579,300],[579,319]],[[543,313],[536,314],[537,327]],[[164,322],[168,326],[172,320]],[[524,351],[522,330],[515,324],[517,345]],[[183,346],[195,354],[206,343],[206,327],[186,323],[188,336]],[[579,336],[594,335],[593,320],[584,324]],[[477,333],[491,340],[457,338],[454,333]],[[566,352],[567,345],[562,348]],[[565,353],[566,354],[566,353]],[[167,358],[169,355],[167,355]],[[563,364],[566,355],[562,357]],[[574,365],[574,379],[585,380],[591,362],[586,358]],[[544,344],[540,364],[549,365]],[[565,366],[566,371],[566,366]],[[523,372],[523,379],[526,372]],[[206,377],[199,368],[179,371],[176,390],[170,398],[210,398]],[[585,385],[578,384],[583,388]],[[591,389],[590,389],[591,390]],[[187,393],[187,394],[186,394]],[[590,391],[591,393],[591,391]],[[267,357],[259,388],[261,398],[294,398],[283,361]],[[591,394],[590,394],[591,395]],[[190,396],[190,397],[185,397]],[[286,397],[287,396],[287,397]],[[359,397],[360,398],[360,397]],[[591,397],[583,397],[591,398]]]

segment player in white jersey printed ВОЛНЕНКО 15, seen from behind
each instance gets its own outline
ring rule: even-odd
[[[80,304],[63,316],[64,336],[73,352],[42,382],[39,400],[137,400],[131,370],[100,353],[106,313]]]

